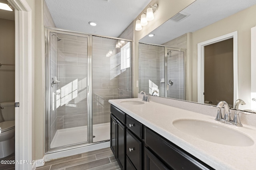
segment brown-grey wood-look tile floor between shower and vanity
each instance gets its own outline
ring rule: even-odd
[[[110,148],[94,150],[45,162],[36,170],[120,170]]]

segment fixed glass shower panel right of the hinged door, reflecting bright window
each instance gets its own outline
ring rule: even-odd
[[[93,142],[110,139],[110,99],[132,98],[131,42],[92,37]],[[111,55],[107,55],[111,51]]]

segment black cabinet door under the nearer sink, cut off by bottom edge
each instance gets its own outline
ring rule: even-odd
[[[169,170],[162,162],[154,156],[146,147],[144,148],[145,170]]]

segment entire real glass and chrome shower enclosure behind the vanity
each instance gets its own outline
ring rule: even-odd
[[[132,98],[132,42],[46,33],[46,152],[110,140],[108,100]]]

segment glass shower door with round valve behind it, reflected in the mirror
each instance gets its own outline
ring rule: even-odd
[[[166,47],[166,97],[186,100],[185,51]]]

